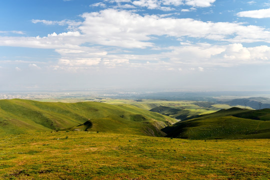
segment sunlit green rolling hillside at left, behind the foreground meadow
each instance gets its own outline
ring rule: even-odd
[[[162,136],[159,129],[173,122],[173,118],[128,104],[0,100],[0,135],[87,130]]]

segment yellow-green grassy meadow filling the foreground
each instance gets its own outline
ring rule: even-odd
[[[0,137],[0,179],[269,179],[269,139],[103,132]]]

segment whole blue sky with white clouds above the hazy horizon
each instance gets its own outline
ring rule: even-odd
[[[1,0],[0,91],[270,90],[270,0]]]

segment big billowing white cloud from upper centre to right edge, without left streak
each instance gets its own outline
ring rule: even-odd
[[[80,31],[89,41],[127,48],[153,46],[151,35],[207,38],[228,42],[270,42],[270,31],[263,27],[231,22],[203,22],[191,18],[156,15],[141,16],[125,10],[105,9],[84,13]]]

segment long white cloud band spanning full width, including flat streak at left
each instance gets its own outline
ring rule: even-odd
[[[77,47],[95,43],[126,48],[153,47],[156,37],[205,38],[231,43],[270,42],[270,31],[255,25],[233,22],[200,21],[192,18],[172,18],[139,15],[126,10],[105,9],[83,13],[84,21],[76,31],[51,33],[44,37],[1,37],[0,45],[38,48]]]

